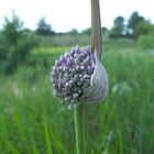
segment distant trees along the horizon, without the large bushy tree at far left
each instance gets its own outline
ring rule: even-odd
[[[146,20],[144,16],[140,15],[139,12],[134,11],[129,20],[125,20],[122,15],[117,16],[113,20],[113,25],[111,30],[107,28],[102,28],[102,33],[108,34],[110,38],[121,38],[121,37],[129,37],[129,38],[139,38],[142,34],[148,34],[153,31],[154,25]],[[80,33],[73,29],[65,34],[88,34],[90,35],[90,28],[82,30]],[[53,34],[63,34],[56,33],[52,30],[52,25],[46,23],[45,18],[42,18],[36,28],[36,34],[38,35],[53,35]]]

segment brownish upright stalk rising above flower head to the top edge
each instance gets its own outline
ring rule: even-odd
[[[91,0],[91,50],[97,52],[98,58],[101,59],[101,21],[99,0]]]

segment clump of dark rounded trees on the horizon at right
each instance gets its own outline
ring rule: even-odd
[[[135,11],[130,15],[130,19],[127,22],[123,16],[117,16],[113,21],[113,26],[110,30],[109,36],[113,38],[139,38],[140,35],[148,34],[153,30],[154,25]]]

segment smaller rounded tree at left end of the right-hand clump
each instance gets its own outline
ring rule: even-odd
[[[124,19],[122,16],[117,16],[113,21],[113,28],[110,31],[110,37],[121,37],[124,31]]]

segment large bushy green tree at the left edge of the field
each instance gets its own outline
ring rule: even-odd
[[[0,35],[1,70],[12,74],[28,58],[35,44],[34,34],[23,29],[23,23],[16,15],[13,14],[12,20],[6,18]]]

